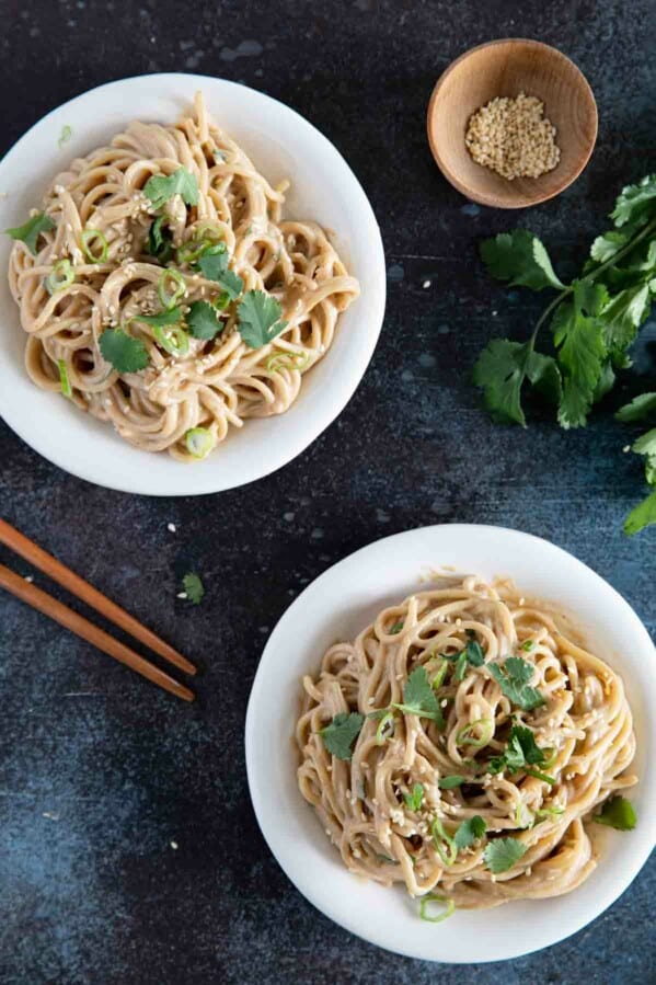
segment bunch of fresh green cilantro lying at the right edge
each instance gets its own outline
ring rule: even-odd
[[[649,317],[656,295],[656,175],[628,185],[610,218],[613,228],[598,236],[580,276],[564,284],[544,244],[526,229],[485,240],[482,259],[493,277],[531,290],[557,294],[538,320],[528,342],[495,339],[481,354],[474,383],[484,391],[493,420],[526,426],[522,392],[531,389],[557,409],[562,427],[585,426],[588,414],[631,366],[629,350]],[[537,348],[549,327],[546,352]],[[656,392],[622,408],[618,420],[656,424]],[[645,458],[652,493],[626,517],[636,534],[656,523],[656,427],[632,446]]]

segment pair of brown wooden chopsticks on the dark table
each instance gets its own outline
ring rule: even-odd
[[[173,646],[164,643],[164,641],[160,640],[153,632],[145,626],[141,626],[134,616],[130,616],[129,612],[126,612],[125,609],[122,609],[120,606],[117,606],[108,599],[102,592],[99,592],[97,588],[94,588],[93,585],[90,585],[89,582],[85,582],[84,579],[77,575],[74,571],[71,571],[70,568],[67,568],[65,564],[61,564],[60,561],[57,561],[56,558],[53,558],[51,554],[48,554],[47,551],[44,551],[38,545],[34,543],[21,534],[20,530],[16,530],[3,519],[0,519],[0,542],[11,548],[16,554],[24,558],[25,561],[30,561],[31,564],[34,564],[35,568],[38,568],[39,571],[43,571],[44,574],[51,577],[53,581],[71,592],[72,595],[77,595],[78,598],[99,611],[111,622],[114,622],[120,629],[124,629],[136,640],[145,643],[154,653],[163,656],[169,663],[179,667],[181,671],[185,671],[187,674],[196,673],[196,667],[189,663],[182,653],[179,653]],[[50,619],[54,619],[56,622],[70,629],[71,632],[82,637],[83,640],[93,643],[93,645],[97,646],[99,650],[102,650],[103,653],[113,656],[114,660],[117,660],[133,671],[136,671],[137,674],[141,674],[142,677],[148,678],[148,680],[151,680],[164,690],[170,691],[170,694],[175,695],[176,698],[182,698],[184,701],[194,700],[194,692],[184,685],[179,684],[175,678],[170,677],[169,674],[164,673],[164,671],[160,671],[154,664],[150,664],[142,656],[139,656],[138,653],[135,653],[134,650],[130,650],[129,646],[115,640],[114,637],[104,632],[100,627],[94,626],[93,622],[84,619],[83,616],[73,612],[68,606],[57,602],[57,599],[53,598],[51,595],[48,595],[47,592],[42,592],[36,585],[25,581],[25,579],[15,574],[15,572],[5,568],[3,564],[0,564],[0,587],[11,592],[11,594],[15,595],[16,598],[20,598],[21,602],[26,602],[27,605],[31,605],[34,609],[38,609],[38,611],[43,612],[45,616],[49,616]]]

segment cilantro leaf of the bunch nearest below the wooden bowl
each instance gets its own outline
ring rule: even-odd
[[[510,286],[542,290],[564,284],[559,280],[544,244],[527,229],[500,232],[481,243],[481,257],[487,272],[497,280],[508,280]]]

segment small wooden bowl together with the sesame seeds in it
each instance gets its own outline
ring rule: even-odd
[[[597,139],[597,105],[569,58],[508,38],[449,66],[427,123],[433,156],[459,192],[482,205],[526,208],[578,177]]]

